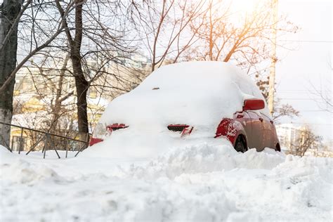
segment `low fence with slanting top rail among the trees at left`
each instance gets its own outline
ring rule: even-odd
[[[26,155],[32,151],[41,151],[45,159],[46,150],[54,150],[60,159],[58,150],[64,150],[66,151],[65,158],[67,158],[68,151],[77,152],[74,155],[76,157],[79,152],[86,149],[89,145],[89,133],[84,136],[85,140],[83,141],[77,138],[30,129],[24,126],[6,124],[4,122],[0,122],[0,124],[11,128],[10,144],[7,145],[6,148],[11,152],[17,151],[18,154],[23,151],[27,151],[25,153]],[[4,129],[4,127],[1,128]]]

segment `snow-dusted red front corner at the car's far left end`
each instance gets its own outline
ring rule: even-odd
[[[93,136],[91,137],[89,145],[100,143],[103,141],[103,138],[107,136],[107,134],[111,134],[113,131],[125,129],[127,127],[129,126],[126,126],[125,124],[111,124],[108,126],[105,124],[97,124],[93,131]]]

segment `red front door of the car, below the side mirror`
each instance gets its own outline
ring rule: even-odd
[[[249,148],[256,148],[257,151],[261,151],[263,150],[263,118],[259,112],[251,110],[247,110],[246,112],[251,119],[250,124],[252,126],[251,135],[248,136]]]

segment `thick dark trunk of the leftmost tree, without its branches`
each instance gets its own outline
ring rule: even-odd
[[[18,25],[13,24],[20,13],[20,0],[4,0],[1,5],[0,20],[0,44],[2,46],[6,35],[12,30],[8,41],[1,47],[0,51],[0,86],[9,77],[16,66],[16,53],[18,48]],[[0,122],[10,124],[13,115],[13,91],[15,79],[6,86],[4,94],[0,98]],[[0,145],[9,148],[11,138],[11,127],[0,124]]]

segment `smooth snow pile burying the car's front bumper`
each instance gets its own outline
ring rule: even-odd
[[[204,138],[209,145],[230,145],[225,138]],[[80,154],[81,157],[112,157],[122,159],[151,159],[163,155],[168,150],[183,148],[202,143],[202,138],[190,134],[181,137],[178,132],[166,131],[137,131],[128,128],[112,132],[102,143],[97,143]]]

